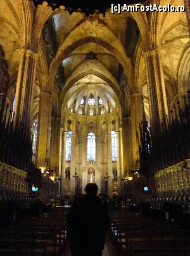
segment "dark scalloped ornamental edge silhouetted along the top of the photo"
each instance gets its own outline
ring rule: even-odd
[[[47,6],[50,6],[53,10],[56,10],[57,8],[60,9],[61,6],[65,7],[65,10],[70,13],[70,15],[75,11],[82,11],[86,15],[93,14],[94,11],[98,10],[99,13],[103,13],[105,15],[105,12],[107,9],[111,8],[111,4],[136,4],[143,2],[142,0],[30,0],[33,1],[35,6],[38,4],[46,4]]]

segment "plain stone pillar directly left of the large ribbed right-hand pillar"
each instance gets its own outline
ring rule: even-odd
[[[143,94],[134,93],[130,95],[130,116],[132,128],[132,168],[136,168],[137,159],[139,159],[139,146],[141,143],[137,140],[137,134],[140,138],[139,123],[143,120]]]

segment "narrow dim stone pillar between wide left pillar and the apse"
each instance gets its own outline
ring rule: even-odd
[[[59,175],[59,158],[60,158],[60,126],[61,118],[51,118],[51,150],[50,166],[56,175]]]

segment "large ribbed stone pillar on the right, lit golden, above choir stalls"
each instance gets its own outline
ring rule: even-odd
[[[144,53],[146,67],[149,114],[153,135],[161,129],[163,116],[167,114],[167,97],[165,91],[165,81],[162,69],[160,50],[156,49]]]

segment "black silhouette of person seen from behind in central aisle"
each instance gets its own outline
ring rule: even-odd
[[[89,183],[84,190],[67,215],[70,249],[72,256],[101,256],[110,227],[107,206],[96,196],[98,185]]]

